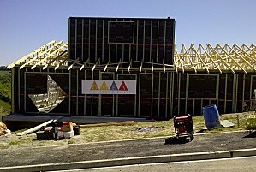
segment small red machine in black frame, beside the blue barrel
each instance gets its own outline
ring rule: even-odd
[[[193,139],[193,120],[192,116],[182,115],[173,117],[176,137],[178,139]]]

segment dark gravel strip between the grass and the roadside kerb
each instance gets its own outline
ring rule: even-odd
[[[165,144],[166,140],[170,139],[137,139],[32,148],[10,147],[0,150],[0,167],[256,148],[256,132],[198,134],[188,143]]]

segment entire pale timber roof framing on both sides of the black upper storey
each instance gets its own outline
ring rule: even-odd
[[[234,44],[230,46],[229,44],[216,44],[212,46],[207,44],[205,47],[199,44],[196,47],[194,44],[190,44],[187,48],[185,44],[182,44],[182,49],[180,52],[174,49],[174,59],[173,64],[154,63],[154,62],[140,62],[140,61],[130,61],[112,63],[110,60],[107,63],[101,64],[98,59],[97,62],[90,62],[87,58],[86,62],[80,62],[79,59],[69,59],[68,58],[68,43],[63,43],[63,41],[56,42],[51,41],[39,49],[21,57],[9,64],[8,68],[19,67],[19,68],[83,68],[86,69],[102,69],[118,71],[118,70],[128,70],[128,72],[137,70],[143,71],[193,71],[197,73],[198,71],[205,71],[206,73],[211,73],[211,71],[223,72],[256,72],[256,46],[254,44],[248,46],[242,44],[238,46]]]

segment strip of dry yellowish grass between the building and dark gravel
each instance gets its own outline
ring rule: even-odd
[[[195,133],[223,133],[232,132],[242,129],[247,129],[247,116],[250,113],[227,114],[220,116],[221,120],[229,120],[235,124],[233,128],[215,128],[206,130],[203,116],[193,117],[193,129]],[[239,119],[239,120],[238,120]],[[256,121],[255,126],[256,126]],[[238,125],[239,124],[239,125]],[[141,131],[140,128],[153,128],[149,131]],[[25,129],[24,129],[25,130]],[[16,131],[21,133],[24,130]],[[36,134],[24,135],[22,137],[15,136],[15,133],[9,138],[5,144],[0,145],[0,149],[5,149],[12,146],[49,146],[49,145],[71,145],[82,144],[89,142],[123,140],[123,139],[145,139],[156,137],[170,137],[175,134],[173,119],[162,122],[137,122],[133,125],[104,125],[80,128],[80,135],[74,136],[71,139],[63,140],[36,140]],[[4,142],[3,142],[4,143]]]

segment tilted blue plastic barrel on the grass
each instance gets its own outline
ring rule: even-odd
[[[205,118],[205,126],[207,129],[217,128],[220,126],[220,119],[215,104],[203,107],[203,114]]]

